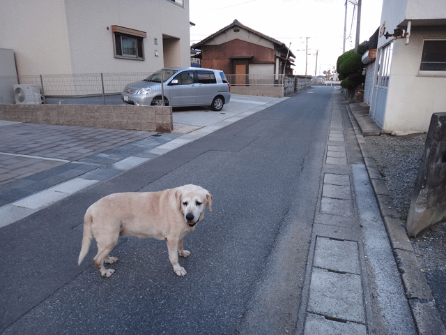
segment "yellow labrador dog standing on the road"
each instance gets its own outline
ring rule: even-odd
[[[91,238],[98,242],[98,254],[93,262],[102,276],[112,276],[114,269],[105,269],[118,258],[109,253],[120,235],[140,238],[165,239],[169,260],[178,276],[186,270],[178,264],[178,253],[187,257],[183,237],[195,229],[203,218],[206,206],[212,211],[213,196],[204,188],[185,185],[160,192],[114,193],[98,200],[86,210],[84,236],[79,254],[79,265],[89,252]]]

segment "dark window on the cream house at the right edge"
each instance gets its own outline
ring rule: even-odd
[[[421,75],[446,75],[446,40],[424,40]]]

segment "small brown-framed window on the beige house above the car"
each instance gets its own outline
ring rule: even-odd
[[[144,60],[145,31],[112,26],[114,40],[114,57]]]

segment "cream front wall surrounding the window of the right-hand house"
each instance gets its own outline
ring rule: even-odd
[[[384,131],[427,131],[431,114],[446,112],[446,77],[418,73],[424,38],[446,38],[446,29],[413,27],[408,45],[394,40]]]

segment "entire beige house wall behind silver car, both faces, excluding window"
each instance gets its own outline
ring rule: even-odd
[[[153,72],[164,67],[166,59],[169,66],[187,67],[189,0],[183,3],[2,0],[0,47],[15,51],[19,75]],[[114,57],[112,25],[146,32],[144,61]],[[163,43],[172,45],[172,38],[174,49]]]

